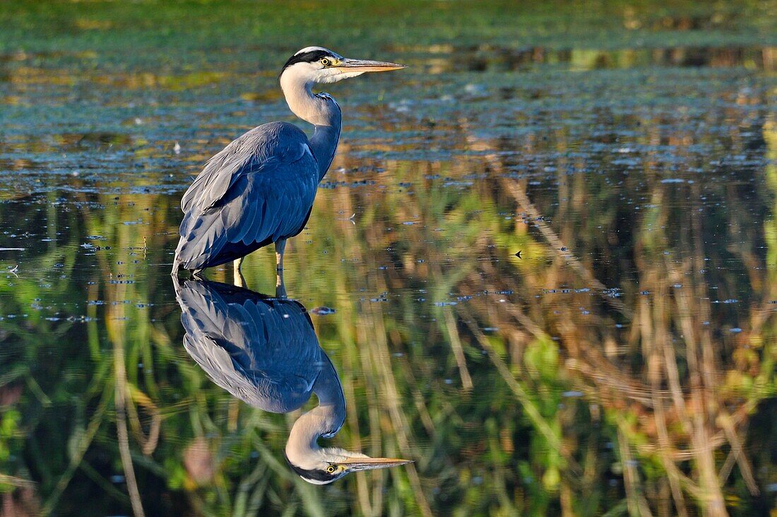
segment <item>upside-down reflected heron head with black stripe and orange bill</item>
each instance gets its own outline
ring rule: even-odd
[[[371,458],[362,453],[354,453],[345,449],[329,447],[309,451],[305,456],[292,454],[286,449],[286,461],[299,476],[312,484],[329,484],[340,477],[358,472],[359,470],[385,469],[396,467],[413,460],[399,460],[396,458]]]

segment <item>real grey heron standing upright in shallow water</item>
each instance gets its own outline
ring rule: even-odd
[[[183,194],[180,240],[172,274],[242,259],[274,243],[277,283],[287,238],[305,227],[315,193],[340,140],[340,106],[316,83],[329,84],[365,72],[405,68],[386,61],[349,59],[324,47],[305,47],[280,72],[280,88],[294,115],[314,126],[312,137],[286,122],[249,130],[215,154]]]

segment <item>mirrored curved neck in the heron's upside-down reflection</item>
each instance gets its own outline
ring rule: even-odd
[[[322,362],[321,373],[313,384],[319,405],[294,422],[286,442],[286,456],[296,465],[315,458],[321,451],[319,437],[332,438],[345,422],[345,397],[340,379],[329,357],[322,355]]]

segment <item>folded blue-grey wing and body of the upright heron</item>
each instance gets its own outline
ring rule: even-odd
[[[317,188],[305,134],[288,123],[256,127],[211,158],[184,194],[176,261],[201,269],[298,234]]]

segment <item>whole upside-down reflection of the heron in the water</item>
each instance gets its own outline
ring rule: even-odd
[[[302,479],[327,484],[357,470],[409,463],[319,446],[320,437],[332,438],[345,422],[345,398],[299,302],[224,283],[174,281],[183,346],[214,383],[274,413],[300,408],[312,393],[318,397],[319,405],[294,422],[286,442],[289,466]]]

